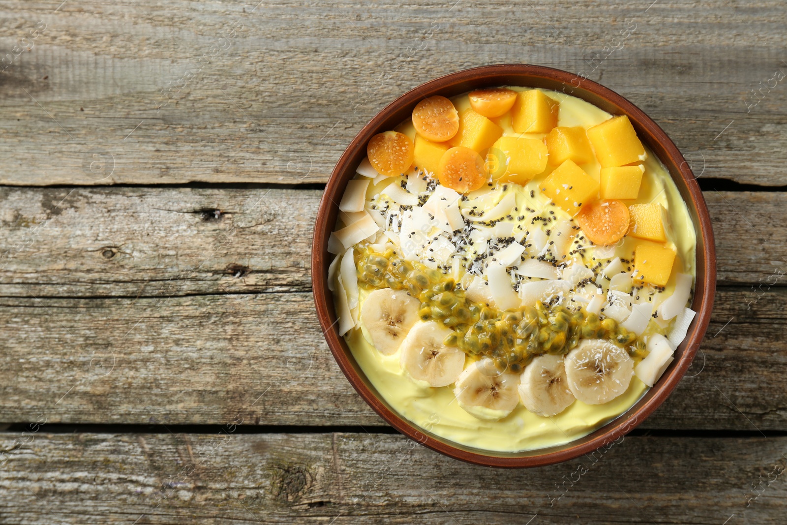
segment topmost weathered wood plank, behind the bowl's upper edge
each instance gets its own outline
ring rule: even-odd
[[[60,4],[0,6],[0,183],[324,181],[397,95],[500,62],[602,81],[704,176],[787,183],[778,2]]]

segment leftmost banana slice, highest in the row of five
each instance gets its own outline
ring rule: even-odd
[[[421,303],[403,290],[383,288],[371,292],[360,308],[360,320],[368,339],[380,353],[396,353],[410,328],[418,320]]]

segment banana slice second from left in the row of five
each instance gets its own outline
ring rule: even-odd
[[[401,343],[401,368],[431,386],[454,383],[464,368],[464,352],[443,344],[452,333],[434,321],[414,324]]]

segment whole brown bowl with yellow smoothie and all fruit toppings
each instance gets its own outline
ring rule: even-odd
[[[530,65],[457,72],[382,110],[317,216],[316,308],[361,397],[451,457],[527,467],[619,440],[710,319],[689,165],[636,106]]]

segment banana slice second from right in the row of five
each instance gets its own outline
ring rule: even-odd
[[[519,399],[536,416],[556,416],[574,402],[560,356],[545,354],[525,367],[519,379]]]

